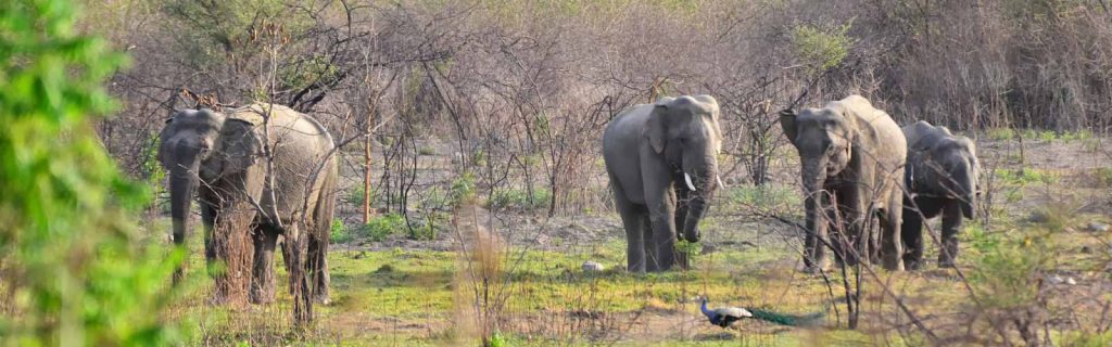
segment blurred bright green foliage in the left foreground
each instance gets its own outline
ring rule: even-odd
[[[91,126],[115,102],[102,87],[127,61],[75,32],[61,0],[0,6],[2,345],[172,345],[169,256],[141,242],[126,180]]]

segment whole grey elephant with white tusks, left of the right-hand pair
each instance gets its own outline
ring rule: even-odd
[[[626,231],[628,271],[669,270],[676,241],[699,240],[699,220],[722,185],[719,113],[711,96],[663,97],[607,125],[603,159]]]

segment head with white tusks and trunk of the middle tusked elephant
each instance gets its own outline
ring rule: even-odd
[[[711,96],[661,98],[644,130],[653,151],[672,169],[681,199],[677,220],[683,222],[676,227],[692,242],[698,241],[698,222],[722,182],[716,158],[722,150],[719,112]]]

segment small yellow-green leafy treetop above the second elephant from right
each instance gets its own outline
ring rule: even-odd
[[[796,58],[807,65],[812,73],[836,67],[853,46],[853,39],[846,34],[852,26],[853,20],[830,28],[796,26],[792,30],[792,46]]]

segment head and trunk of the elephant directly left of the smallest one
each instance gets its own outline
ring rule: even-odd
[[[856,127],[853,118],[845,117],[840,103],[816,109],[807,108],[798,115],[792,110],[780,112],[784,136],[800,152],[803,188],[807,194],[807,210],[813,197],[821,191],[827,178],[845,170],[853,157]]]

